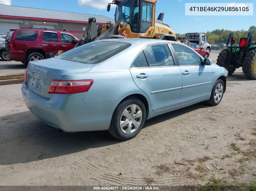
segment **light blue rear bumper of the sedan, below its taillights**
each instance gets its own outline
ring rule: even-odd
[[[24,81],[22,94],[28,109],[46,124],[65,132],[108,130],[119,101],[82,103],[79,94],[55,94],[46,99],[29,90]],[[80,96],[81,98],[81,96]]]

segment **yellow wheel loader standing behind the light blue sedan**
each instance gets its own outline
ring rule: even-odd
[[[108,4],[116,5],[115,24],[107,22],[97,28],[96,19],[89,18],[88,27],[75,47],[92,41],[111,38],[151,38],[176,41],[175,32],[163,22],[164,13],[155,18],[156,0],[113,0]],[[74,47],[74,48],[75,48]],[[62,53],[59,51],[58,54]]]

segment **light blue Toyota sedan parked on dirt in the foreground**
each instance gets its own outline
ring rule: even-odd
[[[175,41],[111,39],[29,62],[26,106],[65,132],[108,130],[134,138],[146,119],[206,101],[221,102],[227,71]]]

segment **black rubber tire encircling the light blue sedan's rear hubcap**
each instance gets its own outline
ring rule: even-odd
[[[132,104],[136,104],[141,109],[141,112],[142,112],[141,123],[139,128],[135,132],[131,134],[125,134],[124,132],[121,131],[121,128],[120,128],[120,118],[123,111],[126,109],[126,107]],[[129,97],[128,99],[124,100],[116,107],[112,115],[111,124],[108,129],[108,132],[114,137],[120,140],[126,141],[138,135],[138,133],[141,131],[142,127],[144,126],[145,120],[146,120],[146,109],[142,101],[136,97]]]

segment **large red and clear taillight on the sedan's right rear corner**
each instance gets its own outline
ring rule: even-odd
[[[48,94],[75,94],[86,92],[91,88],[93,80],[52,80]]]

